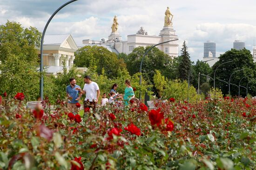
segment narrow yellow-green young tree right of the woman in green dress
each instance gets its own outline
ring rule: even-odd
[[[159,98],[162,97],[162,92],[166,86],[166,81],[164,79],[164,76],[161,75],[161,73],[158,70],[155,70],[155,75],[153,77],[154,79],[154,85],[157,92],[157,96]]]

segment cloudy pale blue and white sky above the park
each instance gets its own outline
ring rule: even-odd
[[[0,24],[16,21],[43,32],[50,16],[67,1],[0,0]],[[256,45],[256,0],[77,0],[54,16],[46,34],[70,33],[78,46],[83,39],[108,39],[117,15],[122,40],[141,26],[148,35],[159,35],[166,7],[174,15],[179,50],[185,40],[193,61],[202,60],[207,40],[216,42],[216,57],[230,50],[234,40],[244,41],[250,51]]]

